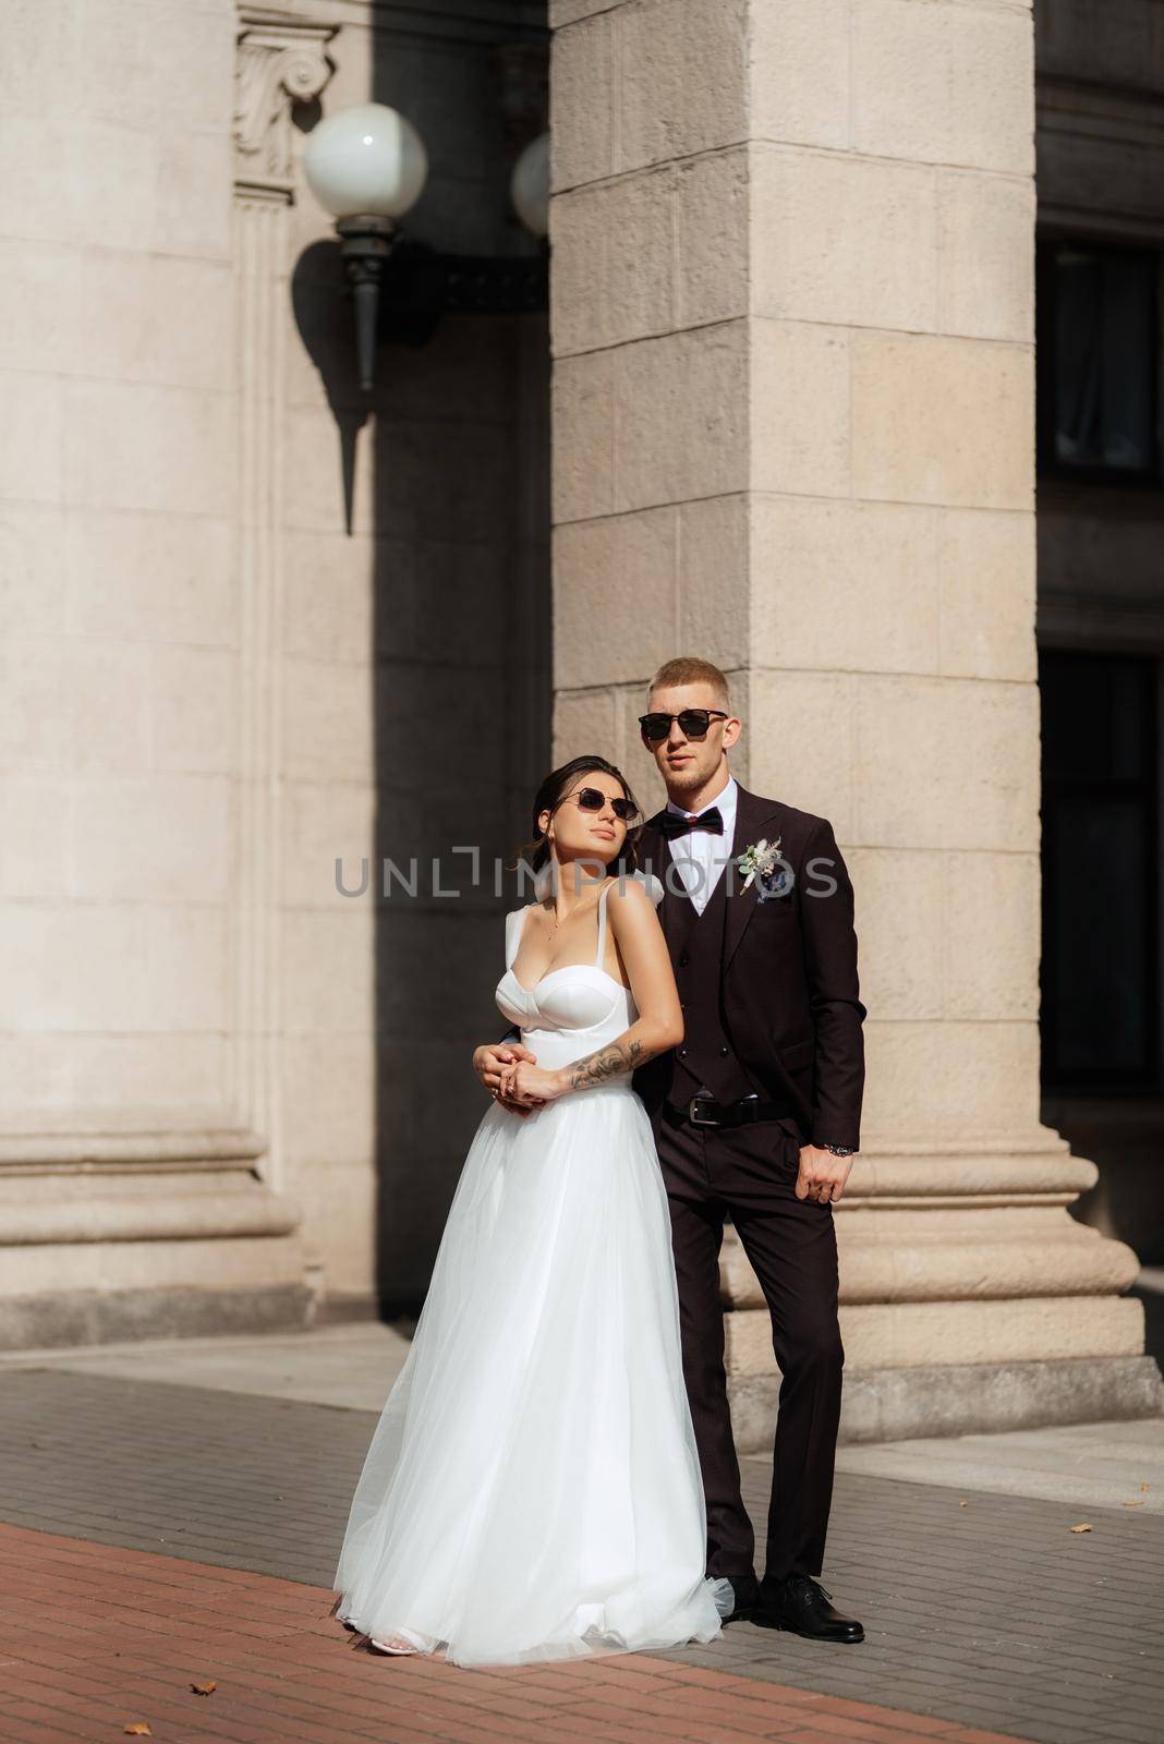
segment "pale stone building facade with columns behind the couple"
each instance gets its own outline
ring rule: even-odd
[[[1035,516],[1037,221],[1046,307],[1143,300],[1079,220],[1159,246],[1154,9],[1105,7],[1100,77],[1091,10],[1037,28],[1025,0],[71,17],[17,12],[0,122],[3,1343],[415,1303],[521,900],[448,860],[512,855],[551,757],[610,755],[657,800],[634,715],[700,652],[746,719],[737,773],[828,814],[857,889],[845,1432],[1157,1409],[1119,1209],[1073,1214],[1096,1087],[1046,1081],[1039,1029],[1042,651],[1091,651],[1106,609],[1113,656],[1134,595],[1155,657],[1150,467],[1136,534],[1124,474],[1079,471],[1129,417],[1147,453],[1134,394],[1096,424],[1059,371]],[[537,255],[505,188],[552,129],[549,319],[387,319],[371,399],[301,174],[319,119],[369,98],[425,141],[406,234],[444,253]],[[1140,153],[1131,208],[1096,103]],[[1070,359],[1091,328],[1059,321]],[[1070,719],[1070,670],[1044,682]],[[723,1280],[758,1442],[779,1378],[730,1240]]]

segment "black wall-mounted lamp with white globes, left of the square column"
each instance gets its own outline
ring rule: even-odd
[[[303,173],[336,220],[355,303],[359,385],[373,385],[382,293],[427,337],[443,312],[512,314],[545,309],[547,262],[537,256],[441,255],[401,239],[401,218],[416,204],[429,159],[416,129],[383,103],[361,103],[328,117],[310,134]],[[511,199],[537,237],[549,228],[549,134],[533,140],[514,166]]]

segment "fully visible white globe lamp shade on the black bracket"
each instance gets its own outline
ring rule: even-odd
[[[312,131],[303,174],[333,218],[403,218],[425,185],[429,155],[394,108],[359,103]]]

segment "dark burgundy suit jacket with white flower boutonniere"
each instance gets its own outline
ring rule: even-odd
[[[744,889],[734,860],[749,844],[781,841],[791,869],[786,895]],[[727,844],[720,855],[727,853]],[[638,841],[638,867],[681,891],[671,848],[650,818]],[[788,877],[784,869],[779,869]],[[735,839],[727,879],[720,999],[737,1060],[765,1100],[788,1104],[802,1144],[861,1142],[866,1008],[857,996],[857,935],[849,872],[833,825],[779,799],[739,787]],[[687,895],[681,896],[687,903]],[[666,903],[660,910],[666,916]],[[666,931],[666,919],[664,919]],[[669,938],[671,957],[678,940]],[[634,1074],[634,1088],[657,1123],[674,1055],[662,1053]]]

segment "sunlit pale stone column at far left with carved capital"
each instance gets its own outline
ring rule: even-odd
[[[61,72],[23,56],[52,72],[21,91],[37,131],[68,110],[70,173],[30,155],[47,277],[3,215],[26,283],[0,324],[54,415],[0,466],[30,582],[2,651],[0,1348],[310,1310],[275,1078],[281,335],[291,105],[336,26],[167,3],[138,68],[89,14]]]

